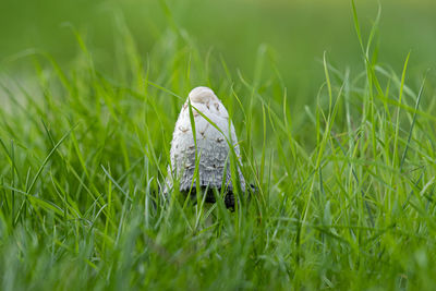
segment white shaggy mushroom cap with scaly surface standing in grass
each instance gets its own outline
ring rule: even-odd
[[[191,126],[189,100],[191,100],[192,113],[195,121],[195,136],[198,150],[197,156],[199,158],[199,181],[195,181],[193,184],[192,180],[195,179],[195,143],[192,132],[193,129]],[[220,129],[222,133],[210,124],[209,121],[203,118],[197,110],[206,116],[217,128]],[[175,178],[180,182],[179,190],[181,192],[189,192],[191,185],[193,185],[191,193],[195,194],[197,182],[203,190],[220,190],[222,179],[226,179],[226,205],[228,207],[233,207],[233,185],[230,174],[230,158],[228,157],[230,149],[229,143],[226,138],[232,142],[234,153],[237,154],[237,157],[240,158],[240,149],[234,126],[229,120],[229,113],[225,106],[208,87],[196,87],[191,90],[181,109],[178,121],[175,122],[170,150],[171,167],[168,167],[169,174],[166,182],[166,189],[168,190],[168,187],[172,187],[172,179]],[[238,172],[241,182],[241,190],[245,191],[245,181],[239,168]],[[206,202],[215,202],[215,196],[211,191],[210,193],[206,193]]]

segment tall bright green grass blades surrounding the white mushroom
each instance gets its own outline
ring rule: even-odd
[[[113,75],[78,33],[66,68],[26,57],[36,81],[1,80],[1,289],[434,290],[432,85],[407,83],[407,52],[402,72],[378,63],[379,16],[364,39],[352,13],[365,70],[325,53],[298,116],[266,46],[254,72],[230,70],[171,21],[147,56],[118,22]],[[234,213],[158,194],[197,85],[228,108],[258,187]]]

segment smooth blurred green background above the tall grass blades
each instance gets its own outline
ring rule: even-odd
[[[409,75],[435,68],[436,1],[382,0],[380,4],[379,61],[398,72],[411,51]],[[356,5],[366,38],[378,2],[356,1]],[[114,53],[120,51],[116,19],[123,17],[144,59],[177,26],[204,54],[210,50],[222,56],[231,70],[252,76],[258,48],[267,45],[284,85],[304,102],[324,80],[319,62],[324,51],[338,69],[363,69],[351,11],[347,0],[2,0],[0,71],[32,69],[28,59],[17,58],[28,49],[49,52],[68,65],[80,50],[72,26],[85,39],[97,68],[110,74],[117,70]]]

